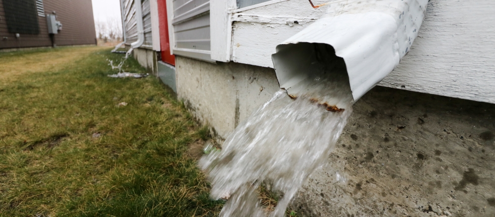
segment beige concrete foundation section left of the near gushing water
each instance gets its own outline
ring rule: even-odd
[[[176,56],[177,97],[222,143],[240,121],[279,90],[271,68]]]

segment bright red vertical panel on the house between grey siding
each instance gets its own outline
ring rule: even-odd
[[[168,64],[175,65],[175,56],[170,54],[166,0],[158,0],[158,19],[160,27],[161,60]]]

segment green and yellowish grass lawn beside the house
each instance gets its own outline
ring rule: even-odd
[[[218,215],[189,151],[207,128],[155,77],[107,77],[122,56],[0,53],[1,217]]]

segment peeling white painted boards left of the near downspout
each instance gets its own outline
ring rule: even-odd
[[[308,1],[288,0],[233,13],[231,60],[273,68],[271,54],[275,47],[324,12],[321,8],[313,9]]]

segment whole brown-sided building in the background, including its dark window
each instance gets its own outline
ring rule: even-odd
[[[91,0],[0,0],[0,18],[0,49],[96,44]]]

